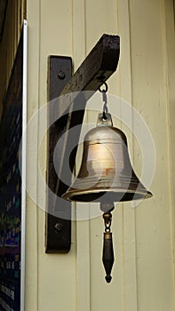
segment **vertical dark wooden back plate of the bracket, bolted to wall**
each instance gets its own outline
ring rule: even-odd
[[[51,56],[48,61],[48,101],[55,100],[68,83],[72,75],[72,60],[70,57]],[[56,103],[57,104],[57,103]],[[55,105],[54,105],[55,106]],[[48,104],[48,124],[52,124],[54,107]],[[66,119],[64,123],[66,122]],[[53,153],[57,141],[65,131],[58,122],[53,123],[48,130],[48,187],[55,192],[57,173],[53,163]],[[58,215],[58,217],[57,217]],[[60,215],[62,217],[60,218]],[[45,251],[47,253],[63,253],[70,250],[71,244],[71,204],[64,202],[56,211],[52,195],[47,195],[47,211],[45,213]]]

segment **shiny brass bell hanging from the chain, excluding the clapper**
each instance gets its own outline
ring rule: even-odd
[[[112,126],[110,114],[85,135],[80,171],[62,195],[76,202],[123,202],[152,196],[131,167],[124,133]]]

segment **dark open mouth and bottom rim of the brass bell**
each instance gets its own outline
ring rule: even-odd
[[[111,191],[111,189],[106,189],[105,191],[99,191],[98,189],[91,190],[77,190],[77,189],[69,189],[68,192],[66,192],[61,197],[64,200],[70,201],[70,202],[126,202],[126,201],[132,201],[132,200],[141,200],[141,199],[147,199],[152,196],[152,193],[149,191],[133,191],[126,189],[125,191],[123,189],[117,189],[117,191]]]

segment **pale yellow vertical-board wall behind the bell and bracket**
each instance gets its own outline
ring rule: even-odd
[[[153,198],[113,212],[113,282],[104,281],[101,218],[73,222],[71,251],[44,253],[44,211],[28,195],[26,311],[173,311],[174,297],[174,17],[171,0],[28,0],[28,121],[47,100],[47,58],[73,58],[75,69],[103,33],[121,36],[117,73],[109,92],[144,118],[155,142]],[[89,114],[88,121],[96,116]],[[28,132],[28,183],[45,202],[38,182],[38,116]],[[115,124],[114,124],[115,125]],[[123,124],[121,124],[123,126]],[[134,128],[133,119],[133,128]],[[139,146],[124,127],[132,163],[141,175]],[[46,164],[46,144],[40,164]]]

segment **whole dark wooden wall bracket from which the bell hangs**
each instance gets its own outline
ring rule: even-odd
[[[74,126],[80,125],[79,130],[76,132],[76,145],[78,145],[86,101],[115,72],[119,54],[119,36],[103,35],[73,76],[71,58],[61,56],[49,57],[48,100],[54,100],[54,105],[49,105],[48,114],[48,122],[52,125],[49,126],[48,130],[47,184],[52,193],[55,196],[57,195],[58,199],[55,200],[55,196],[53,199],[53,195],[48,195],[47,197],[45,219],[45,251],[47,253],[68,252],[71,245],[71,203],[63,200],[60,203],[60,196],[68,189],[68,185],[62,181],[65,163],[69,162],[71,172],[76,161],[76,148],[71,152],[71,158],[66,161],[69,155],[68,147],[70,144],[68,132]],[[85,97],[81,94],[83,91],[89,91]],[[68,96],[64,95],[73,92],[76,93],[72,102],[71,96],[68,100]],[[64,99],[65,97],[67,100]],[[60,116],[60,106],[64,117]],[[74,112],[76,109],[78,109],[78,114]],[[58,120],[52,123],[52,119],[57,115]],[[63,134],[64,140],[58,146],[57,142]],[[53,161],[56,146],[59,149],[59,177]],[[67,176],[69,184],[71,183],[71,177],[72,174],[70,173]]]

